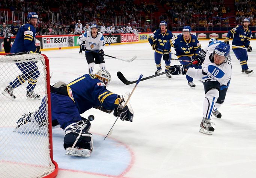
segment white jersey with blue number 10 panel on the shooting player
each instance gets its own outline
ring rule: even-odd
[[[218,81],[220,85],[228,85],[232,74],[232,58],[230,55],[224,63],[217,65],[213,60],[213,51],[221,41],[215,40],[211,42],[206,49],[205,61],[202,64],[202,69],[188,68],[187,75],[200,81]]]

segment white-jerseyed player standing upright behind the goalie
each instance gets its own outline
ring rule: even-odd
[[[78,37],[78,43],[85,52],[86,61],[88,63],[89,74],[93,73],[93,68],[99,64],[101,69],[105,69],[104,51],[105,39],[103,34],[97,31],[98,25],[92,24],[91,31],[86,31]],[[93,51],[93,52],[92,52]],[[95,59],[95,61],[94,61]]]

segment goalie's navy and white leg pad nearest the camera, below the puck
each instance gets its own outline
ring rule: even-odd
[[[93,138],[89,133],[90,121],[78,121],[66,127],[64,148],[66,155],[89,157],[93,151]]]

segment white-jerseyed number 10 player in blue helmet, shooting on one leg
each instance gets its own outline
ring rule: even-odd
[[[230,46],[219,41],[212,41],[207,50],[205,60],[203,57],[195,59],[197,65],[202,64],[202,69],[184,69],[182,65],[170,67],[173,75],[186,74],[203,82],[205,100],[203,103],[203,120],[199,132],[212,135],[214,128],[211,126],[211,117],[217,108],[224,102],[227,88],[229,87],[232,73],[232,58],[229,55]],[[216,104],[215,104],[216,103]]]

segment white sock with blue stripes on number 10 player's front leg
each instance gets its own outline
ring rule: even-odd
[[[215,88],[209,90],[205,94],[205,100],[203,102],[203,117],[211,119],[214,111],[215,103],[219,97],[219,91]]]

